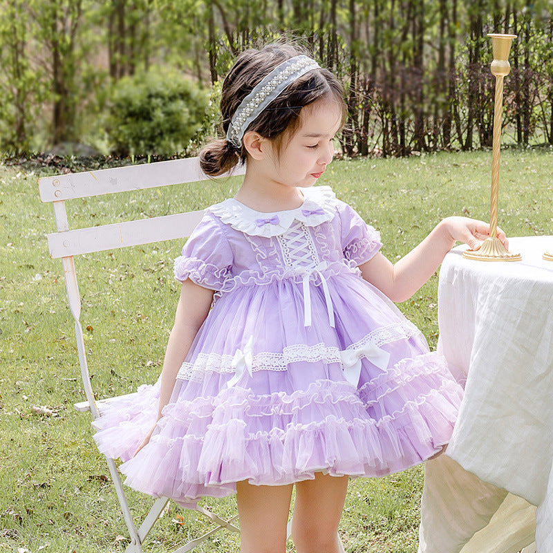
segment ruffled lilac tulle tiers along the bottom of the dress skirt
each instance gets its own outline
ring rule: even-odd
[[[130,458],[155,420],[156,388],[143,387],[125,400],[129,409],[120,426],[122,410],[105,410],[96,423],[107,427],[96,435],[101,451]],[[205,397],[197,388],[178,382],[157,433],[121,467],[127,485],[190,506],[202,496],[233,494],[241,480],[281,485],[318,471],[383,476],[447,444],[461,400],[433,353],[406,360],[359,391],[329,380],[291,394],[233,387]],[[192,399],[181,399],[186,396]]]

